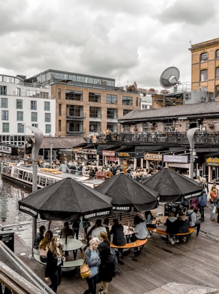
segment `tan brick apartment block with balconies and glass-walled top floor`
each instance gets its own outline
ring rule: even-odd
[[[116,87],[115,80],[48,69],[26,80],[50,87],[56,101],[55,137],[118,131],[118,119],[140,109],[136,87]]]

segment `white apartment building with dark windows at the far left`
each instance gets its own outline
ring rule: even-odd
[[[55,100],[49,87],[25,82],[25,76],[0,74],[0,142],[24,146],[33,135],[28,126],[44,135],[55,133]]]

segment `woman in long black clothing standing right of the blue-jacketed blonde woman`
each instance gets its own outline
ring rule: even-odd
[[[108,235],[101,231],[99,234],[99,240],[101,240],[98,250],[101,257],[101,264],[99,267],[99,281],[102,286],[99,289],[99,294],[108,294],[108,283],[112,281],[115,275],[114,271],[114,256],[110,253],[110,241]]]

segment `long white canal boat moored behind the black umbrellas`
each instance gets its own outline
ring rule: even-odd
[[[33,167],[31,165],[13,165],[5,164],[1,167],[1,177],[16,185],[20,185],[27,190],[32,190],[33,185]],[[57,181],[66,178],[72,178],[76,181],[80,181],[85,185],[94,188],[103,181],[92,180],[88,174],[77,174],[73,172],[61,172],[60,170],[55,170],[53,168],[38,168],[37,171],[37,187],[44,188],[51,185]]]

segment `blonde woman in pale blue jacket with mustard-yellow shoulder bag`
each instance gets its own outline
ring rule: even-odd
[[[84,251],[84,258],[92,271],[92,275],[86,278],[88,283],[88,290],[83,294],[96,294],[96,283],[99,272],[99,265],[101,264],[101,258],[99,256],[99,238],[92,238],[89,242],[90,246]]]

